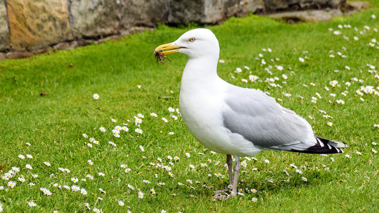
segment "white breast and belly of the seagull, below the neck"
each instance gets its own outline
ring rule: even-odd
[[[221,80],[221,79],[219,79]],[[180,88],[179,107],[189,132],[206,148],[223,154],[255,155],[261,149],[254,147],[243,136],[231,133],[224,127],[222,109],[228,83],[221,80],[211,85],[186,84]]]

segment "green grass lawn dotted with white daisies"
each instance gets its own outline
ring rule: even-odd
[[[250,15],[207,27],[216,34],[221,48],[220,59],[225,60],[218,66],[221,78],[234,85],[270,92],[270,96],[282,99],[278,102],[305,117],[317,135],[349,144],[344,154],[351,158],[344,154],[324,157],[262,152],[254,156],[257,160],[247,161],[247,167],[243,168],[246,174],[240,174],[240,180],[244,181],[238,188],[245,195],[214,201],[212,191],[228,185],[225,156],[204,150],[189,134],[180,116],[178,120],[170,117],[170,114],[177,115],[176,112],[170,113],[168,108],[179,107],[181,73],[167,72],[164,66],[157,66],[151,52],[160,44],[174,41],[189,28],[160,26],[153,32],[133,34],[120,41],[0,62],[0,176],[13,166],[21,168],[11,178],[17,182],[14,188],[7,186],[8,180],[0,179],[0,186],[4,186],[0,190],[0,203],[5,212],[93,212],[93,207],[102,208],[104,212],[126,212],[127,206],[132,212],[160,212],[164,209],[168,213],[378,212],[378,154],[372,149],[379,151],[379,147],[372,143],[379,143],[379,128],[374,127],[379,123],[379,96],[365,93],[362,96],[364,101],[361,101],[361,96],[356,93],[361,86],[379,86],[375,73],[369,73],[370,67],[366,66],[371,64],[379,70],[378,44],[375,47],[367,45],[373,38],[379,40],[379,33],[373,30],[379,28],[378,3],[373,1],[373,4],[374,8],[363,13],[336,17],[326,23],[288,25]],[[376,14],[377,18],[371,18],[371,14]],[[351,28],[338,29],[339,24],[350,24]],[[365,25],[370,30],[360,34]],[[342,35],[333,34],[328,28],[340,30]],[[359,40],[354,41],[353,36]],[[271,48],[272,52],[264,52],[263,48]],[[305,50],[308,53],[303,53]],[[329,57],[330,50],[334,50],[335,58]],[[347,57],[337,55],[338,51]],[[264,66],[255,59],[259,53],[267,62]],[[305,56],[309,60],[301,63],[299,57]],[[173,61],[170,66],[183,70],[187,60],[185,55],[177,53],[169,58]],[[269,65],[273,66],[273,75],[264,70]],[[280,71],[275,65],[284,69]],[[250,67],[252,74],[263,82],[242,82],[242,78],[248,79],[249,76],[249,70],[244,66]],[[236,74],[236,67],[241,67],[243,72]],[[291,71],[296,75],[291,75]],[[284,80],[282,74],[288,79]],[[279,77],[276,83],[282,88],[270,87],[264,82],[273,77]],[[363,83],[351,80],[355,77]],[[332,80],[337,80],[340,86],[330,86]],[[351,82],[347,89],[346,81]],[[142,85],[141,89],[137,85]],[[326,91],[325,86],[330,90]],[[341,92],[345,90],[348,93],[343,96]],[[40,96],[42,91],[47,95]],[[290,93],[291,97],[283,96],[283,92]],[[317,97],[316,92],[322,98],[312,103],[311,97]],[[98,100],[92,98],[95,93],[100,95]],[[337,96],[331,97],[330,93]],[[336,103],[339,99],[345,104]],[[326,111],[333,119],[324,118],[319,110]],[[158,117],[150,116],[151,112],[157,113]],[[134,132],[133,116],[138,113],[144,115],[142,135]],[[169,121],[164,123],[162,117]],[[117,122],[112,122],[111,118]],[[327,122],[333,125],[328,126]],[[128,123],[129,132],[121,131],[121,137],[114,138],[111,130],[123,123]],[[100,132],[101,126],[106,132]],[[100,144],[88,147],[86,143],[89,141],[83,138],[83,133]],[[108,141],[113,141],[117,147],[111,147]],[[144,147],[144,152],[139,145]],[[191,157],[187,158],[186,152]],[[33,158],[21,160],[17,157],[19,154],[31,154]],[[178,156],[180,160],[173,160],[173,165],[169,165],[168,155]],[[158,157],[162,159],[161,164],[171,166],[174,177],[169,177],[165,169],[149,164],[160,163]],[[87,163],[89,159],[94,165]],[[208,159],[211,162],[207,162]],[[270,163],[264,163],[265,159]],[[49,161],[51,166],[45,166],[44,161]],[[221,163],[217,166],[216,161]],[[32,170],[25,168],[27,163],[33,166]],[[200,163],[208,166],[201,167]],[[297,174],[291,163],[299,168],[305,167],[301,169],[303,174]],[[121,164],[127,164],[131,171],[125,173]],[[196,171],[192,171],[189,164],[196,166]],[[323,164],[329,172],[325,171]],[[69,169],[70,173],[61,172],[60,167]],[[285,167],[289,175],[283,172]],[[98,172],[105,176],[98,176]],[[225,175],[224,179],[215,177],[217,172]],[[50,177],[52,173],[55,175]],[[32,174],[39,177],[34,179]],[[76,183],[88,191],[86,196],[50,185],[71,186],[71,177],[81,179],[87,174],[93,175],[94,180],[87,178],[86,182]],[[308,181],[302,181],[302,176]],[[18,177],[24,177],[26,181],[20,183]],[[273,179],[273,183],[268,182],[269,179]],[[289,182],[283,181],[287,179]],[[143,183],[143,180],[151,183]],[[30,182],[35,185],[29,186]],[[158,182],[165,185],[157,186]],[[179,186],[178,182],[184,186]],[[127,184],[136,190],[128,190]],[[204,184],[209,187],[203,187]],[[41,187],[48,188],[52,195],[44,195],[39,190]],[[150,188],[154,188],[157,194],[151,195]],[[249,193],[246,188],[255,188],[258,192]],[[138,199],[138,189],[144,193],[143,199]],[[174,193],[176,196],[172,196]],[[97,197],[103,197],[103,200],[97,200]],[[252,202],[252,197],[257,197],[258,202]],[[119,206],[117,200],[125,202],[125,206]],[[30,201],[37,206],[29,207],[27,202]],[[89,203],[91,210],[87,210],[84,202]]]

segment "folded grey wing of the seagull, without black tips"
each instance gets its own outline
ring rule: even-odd
[[[312,127],[304,118],[261,91],[236,88],[227,93],[225,100],[224,127],[254,145],[276,148],[316,142]]]

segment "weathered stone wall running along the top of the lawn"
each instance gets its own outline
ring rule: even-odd
[[[345,0],[0,0],[0,60],[86,45],[158,23],[220,23],[231,16],[337,8]]]

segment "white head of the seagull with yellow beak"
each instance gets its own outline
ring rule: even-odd
[[[155,49],[155,51],[160,50],[163,56],[179,52],[188,55],[189,58],[204,56],[215,56],[218,58],[220,52],[215,34],[205,28],[189,30],[176,41],[162,44]]]

